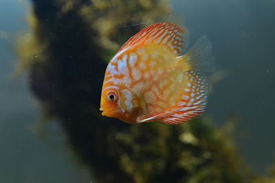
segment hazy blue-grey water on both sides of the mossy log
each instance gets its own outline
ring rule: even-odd
[[[229,73],[214,85],[207,114],[217,125],[231,112],[241,117],[236,143],[252,169],[264,173],[275,149],[275,1],[173,0],[172,5],[184,16],[191,42],[208,36],[218,71]],[[27,29],[25,9],[16,0],[0,1],[0,182],[88,182],[85,170],[65,152],[64,139],[49,145],[34,134],[39,111],[26,77],[10,78],[16,56],[3,32]]]

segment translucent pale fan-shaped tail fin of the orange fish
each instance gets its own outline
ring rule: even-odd
[[[216,69],[212,46],[206,36],[199,38],[184,56],[192,71],[212,72]]]

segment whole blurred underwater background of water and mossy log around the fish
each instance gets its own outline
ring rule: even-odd
[[[0,182],[274,181],[274,8],[1,0]],[[212,42],[206,112],[172,126],[101,117],[107,62],[142,27],[166,20],[184,22],[190,45]]]

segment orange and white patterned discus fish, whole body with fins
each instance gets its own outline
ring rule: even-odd
[[[107,66],[102,115],[178,124],[201,114],[208,86],[198,72],[214,71],[212,47],[206,36],[188,51],[187,43],[188,32],[174,23],[155,23],[125,42]]]

